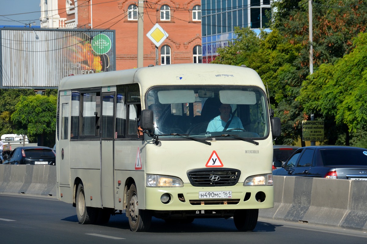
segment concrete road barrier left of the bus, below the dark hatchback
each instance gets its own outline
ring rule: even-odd
[[[0,192],[56,196],[54,165],[0,165]]]

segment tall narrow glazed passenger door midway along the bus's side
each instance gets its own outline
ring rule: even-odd
[[[104,208],[114,208],[113,138],[115,121],[115,93],[102,94],[101,123],[101,199]]]

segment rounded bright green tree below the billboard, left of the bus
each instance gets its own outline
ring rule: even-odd
[[[15,133],[37,136],[38,145],[55,143],[57,96],[21,96],[11,114]]]

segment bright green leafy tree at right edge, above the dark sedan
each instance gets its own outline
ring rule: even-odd
[[[333,118],[337,126],[358,136],[367,128],[367,33],[353,43],[350,54],[334,64],[322,64],[304,81],[298,101],[306,112]]]

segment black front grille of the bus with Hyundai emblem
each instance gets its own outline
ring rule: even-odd
[[[232,168],[196,169],[187,172],[193,186],[234,186],[240,178],[241,171]]]

